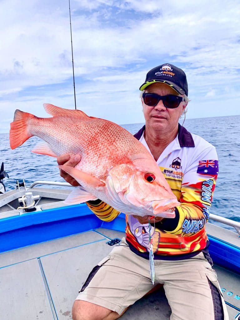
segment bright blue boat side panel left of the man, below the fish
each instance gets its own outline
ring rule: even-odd
[[[28,212],[0,220],[0,253],[97,228],[124,232],[125,224],[123,213],[104,222],[86,204]]]

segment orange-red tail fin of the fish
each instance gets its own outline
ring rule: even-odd
[[[34,118],[31,113],[16,110],[13,118],[13,122],[10,124],[10,147],[15,149],[21,146],[26,140],[33,136],[28,132],[27,120]]]

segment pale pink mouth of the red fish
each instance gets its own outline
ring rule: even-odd
[[[167,199],[164,203],[162,201],[153,201],[153,213],[157,217],[175,218],[175,207],[179,205],[180,202],[176,199]]]

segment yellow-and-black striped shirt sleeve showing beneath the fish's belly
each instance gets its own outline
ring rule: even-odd
[[[114,220],[120,212],[100,199],[86,202],[89,209],[100,219],[106,222]]]

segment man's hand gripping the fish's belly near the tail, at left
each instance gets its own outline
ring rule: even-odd
[[[57,162],[59,165],[66,164],[69,167],[75,167],[76,164],[78,164],[81,160],[81,156],[79,155],[74,155],[70,153],[66,153],[64,155],[61,155],[57,157]],[[68,183],[70,183],[72,186],[77,187],[80,186],[80,184],[68,173],[60,169],[60,176],[65,179]]]

